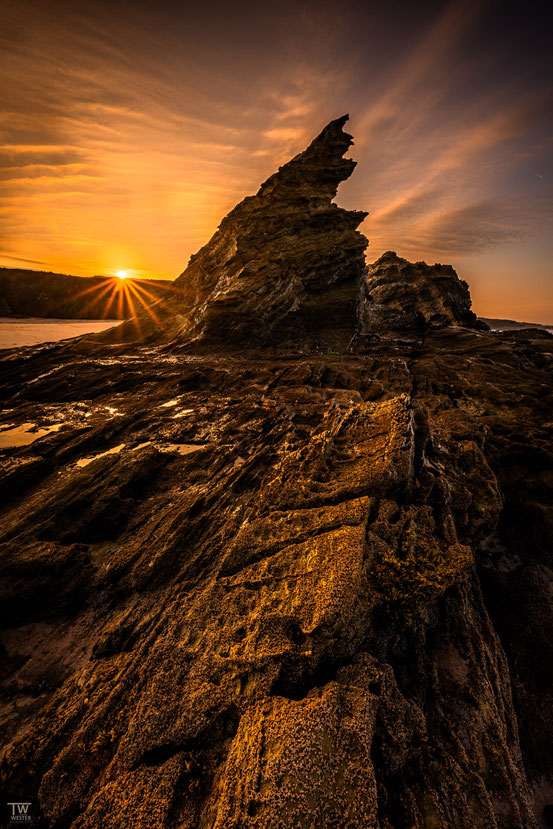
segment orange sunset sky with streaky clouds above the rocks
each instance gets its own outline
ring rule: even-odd
[[[3,0],[0,265],[174,278],[349,112],[368,260],[553,323],[552,5]]]

